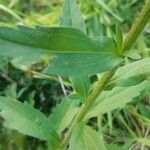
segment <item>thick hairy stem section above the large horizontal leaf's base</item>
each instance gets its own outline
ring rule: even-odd
[[[138,15],[137,19],[133,23],[130,31],[128,32],[125,38],[121,53],[123,53],[126,50],[129,50],[132,47],[141,31],[145,28],[149,18],[150,18],[150,0],[147,0],[141,13]]]

